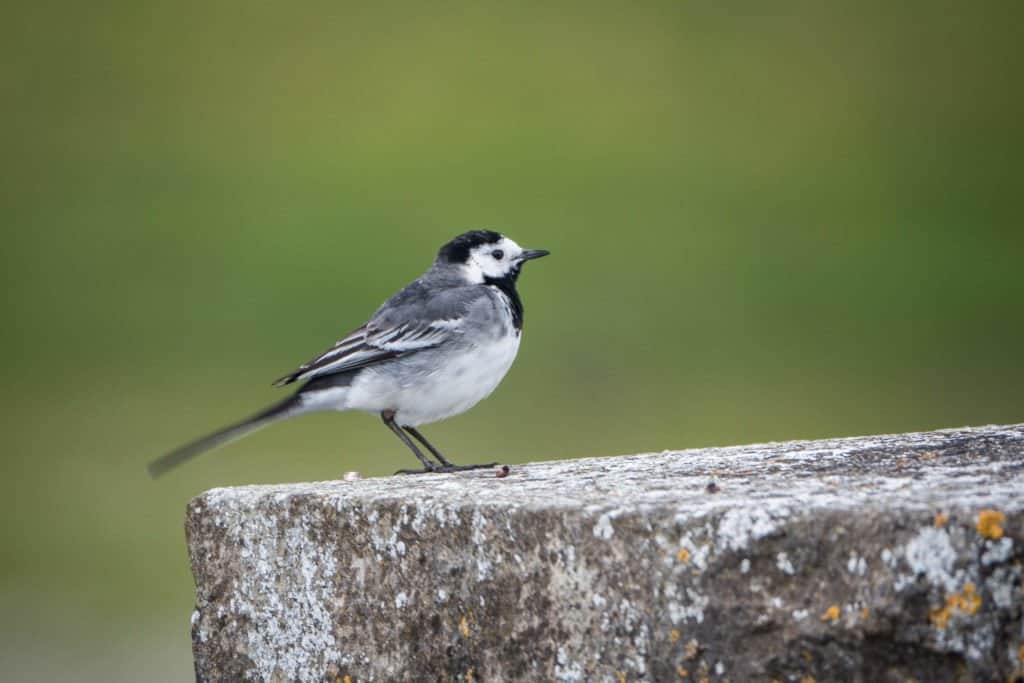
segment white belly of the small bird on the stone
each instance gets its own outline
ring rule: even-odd
[[[395,412],[416,427],[451,418],[490,395],[519,350],[519,334],[503,336],[452,354],[417,353],[400,370],[368,368],[346,391],[341,410]],[[397,365],[397,364],[396,364]]]

